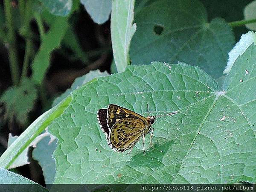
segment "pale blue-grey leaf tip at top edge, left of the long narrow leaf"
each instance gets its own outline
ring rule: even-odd
[[[111,12],[111,0],[80,0],[93,21],[98,24],[105,23]]]

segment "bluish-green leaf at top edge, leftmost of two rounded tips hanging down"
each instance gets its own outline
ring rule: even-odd
[[[53,14],[65,16],[70,13],[72,0],[40,0],[41,3]]]

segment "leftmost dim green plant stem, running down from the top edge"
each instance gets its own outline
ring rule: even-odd
[[[8,44],[9,44],[9,62],[10,70],[12,75],[12,81],[15,86],[19,84],[19,67],[17,60],[17,49],[16,49],[16,36],[13,24],[13,10],[11,6],[11,0],[4,0],[4,8],[6,13],[6,26],[8,29]]]

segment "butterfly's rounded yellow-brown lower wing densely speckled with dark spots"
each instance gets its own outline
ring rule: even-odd
[[[148,126],[142,119],[123,118],[111,128],[108,143],[114,151],[125,151],[133,147]]]

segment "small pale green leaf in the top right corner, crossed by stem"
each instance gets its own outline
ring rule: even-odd
[[[244,8],[244,20],[251,20],[251,19],[256,19],[256,0],[249,3]],[[256,22],[246,24],[245,26],[250,30],[256,31]]]

